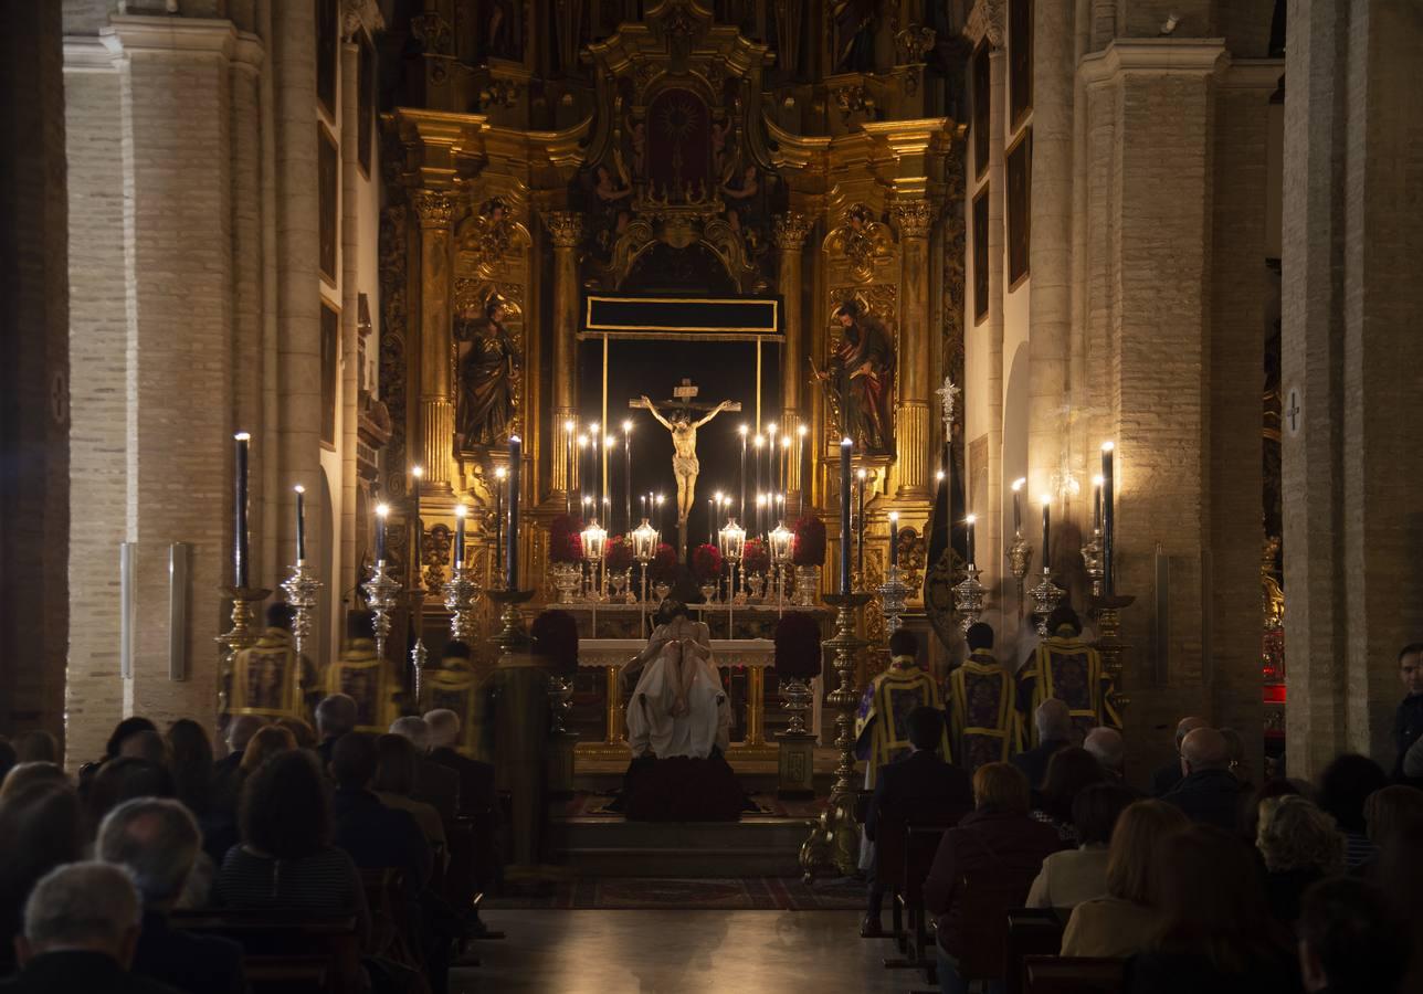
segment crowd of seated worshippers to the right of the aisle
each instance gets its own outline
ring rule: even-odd
[[[926,684],[904,748],[871,762],[861,936],[894,943],[887,968],[945,994],[1423,991],[1423,789],[1403,766],[1423,698],[1407,673],[1393,775],[1346,754],[1316,782],[1258,782],[1235,732],[1188,717],[1143,793],[1120,731],[1084,732],[1059,698],[1030,727],[966,724],[966,704],[1015,683],[1026,704],[1035,677],[999,667],[988,626],[968,641],[949,700]]]

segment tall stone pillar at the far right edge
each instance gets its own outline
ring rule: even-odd
[[[1423,631],[1423,104],[1409,4],[1289,4],[1282,387],[1288,768],[1395,759]]]

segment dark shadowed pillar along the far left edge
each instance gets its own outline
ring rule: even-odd
[[[0,38],[0,732],[58,731],[68,650],[70,341],[60,4]],[[102,205],[111,218],[112,203]],[[94,273],[102,276],[102,273]],[[122,296],[115,300],[122,306]]]

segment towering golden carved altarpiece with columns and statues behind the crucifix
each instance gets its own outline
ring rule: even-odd
[[[407,518],[390,555],[406,589],[424,592],[411,616],[431,658],[448,631],[440,604],[457,503],[468,508],[467,562],[484,589],[495,583],[511,434],[524,458],[521,586],[536,590],[525,607],[556,600],[549,523],[585,482],[565,425],[608,418],[606,398],[579,395],[581,344],[599,337],[586,297],[684,297],[687,286],[778,301],[778,383],[758,414],[787,437],[807,428],[807,458],[784,481],[787,511],[834,516],[838,442],[855,434],[861,586],[884,576],[896,512],[906,623],[924,624],[924,536],[945,451],[935,394],[962,363],[962,100],[948,82],[962,78],[962,51],[943,4],[407,7],[383,68],[394,82],[381,117],[381,384],[393,421],[381,489]],[[813,373],[845,348],[845,304],[888,346],[884,418],[868,437]],[[497,610],[477,604],[478,654]],[[882,644],[882,616],[865,619]]]

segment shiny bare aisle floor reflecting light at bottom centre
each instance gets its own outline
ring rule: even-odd
[[[858,912],[498,912],[508,934],[477,943],[451,994],[864,994],[925,987],[885,970],[889,940],[859,939]],[[808,977],[813,983],[807,983]]]

